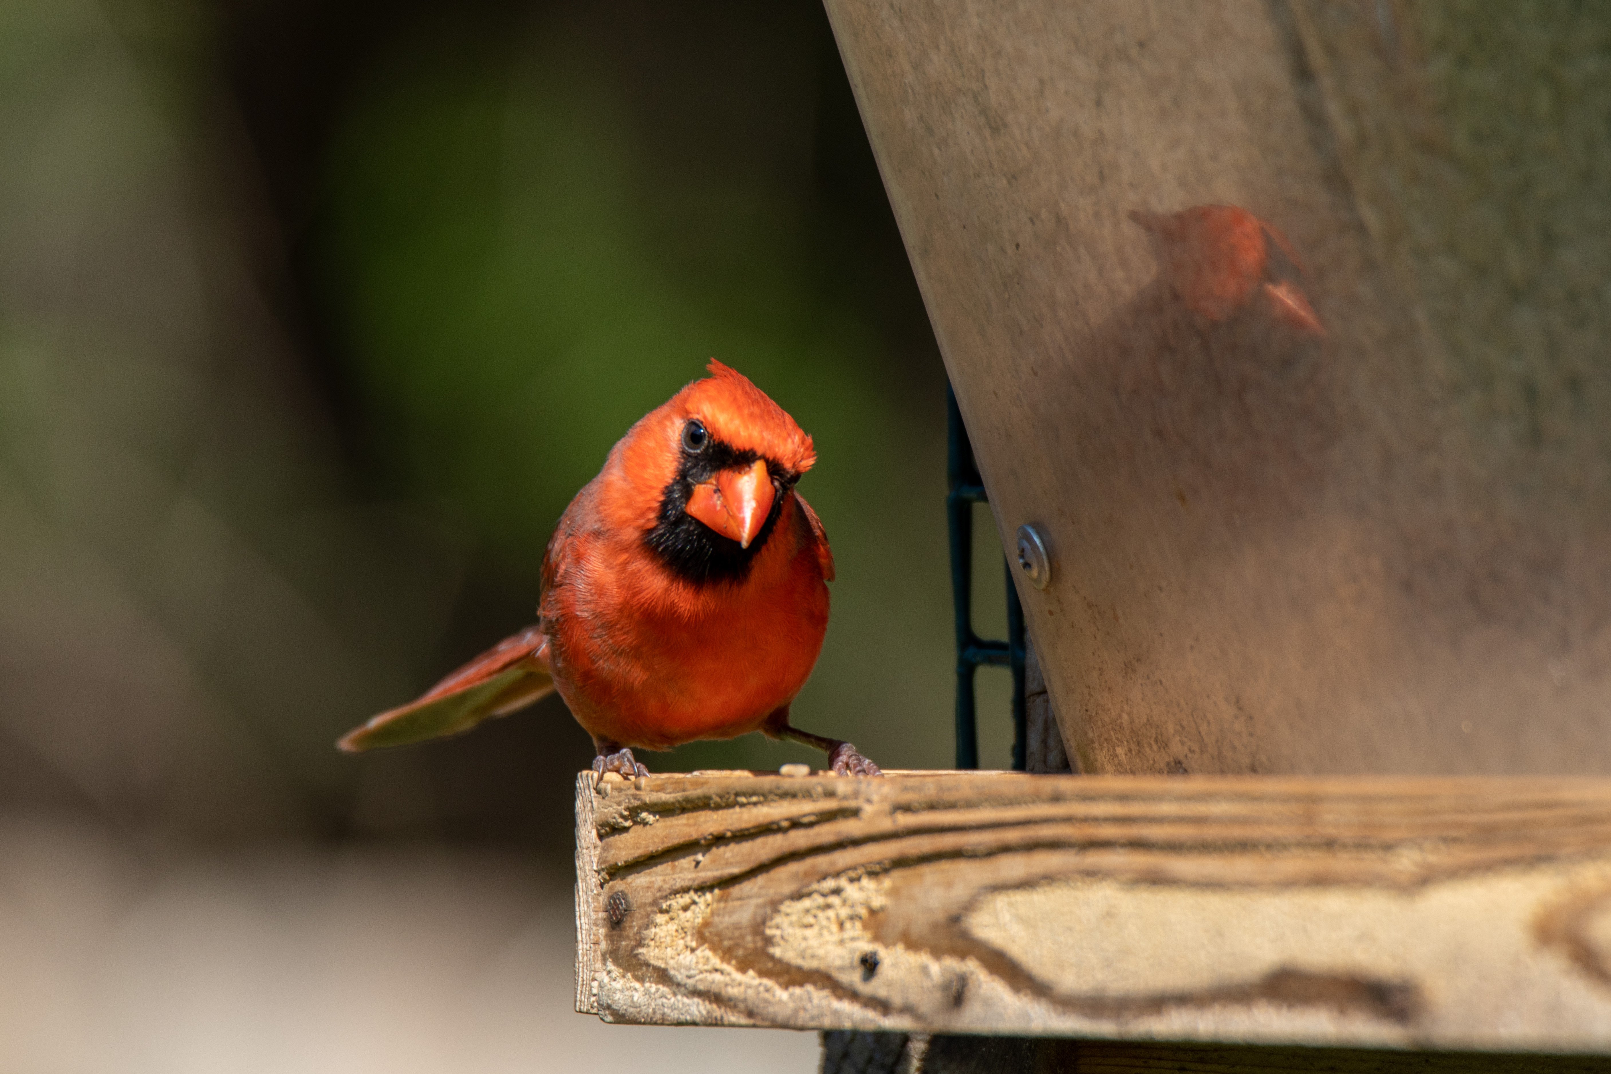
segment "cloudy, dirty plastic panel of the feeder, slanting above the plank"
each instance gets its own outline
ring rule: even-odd
[[[1611,775],[1611,8],[826,8],[1076,770]]]

